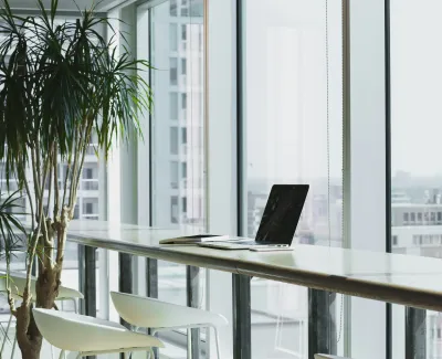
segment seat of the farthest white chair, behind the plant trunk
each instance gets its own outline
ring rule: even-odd
[[[6,275],[4,273],[0,274],[0,276],[2,276],[0,278],[0,292],[7,291],[7,278],[4,277],[4,275]],[[15,300],[20,300],[23,296],[24,286],[27,285],[27,277],[18,273],[17,274],[14,273],[9,277],[10,277],[12,297]],[[32,277],[31,278],[32,300],[35,300],[36,298],[35,284],[36,284],[36,278]],[[78,291],[61,285],[59,287],[59,296],[56,297],[56,300],[66,300],[66,299],[83,299],[83,294]]]

